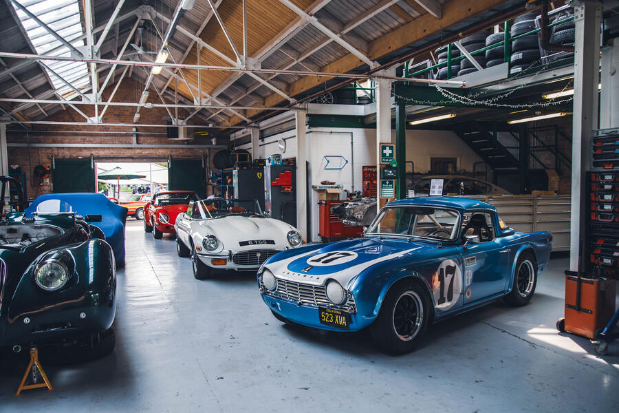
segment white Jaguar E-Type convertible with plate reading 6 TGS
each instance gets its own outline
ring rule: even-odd
[[[208,278],[211,268],[257,271],[276,253],[303,243],[294,226],[265,217],[257,200],[191,202],[174,228],[177,253],[192,256],[197,279]]]

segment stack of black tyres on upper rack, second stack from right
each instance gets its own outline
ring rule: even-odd
[[[512,39],[535,30],[536,14],[526,13],[514,19],[510,30]],[[510,56],[510,74],[517,74],[539,62],[539,41],[537,34],[520,37],[512,41],[512,55]]]

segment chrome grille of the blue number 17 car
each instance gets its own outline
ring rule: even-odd
[[[269,291],[264,288],[262,284],[262,277],[260,277],[260,286],[263,287],[264,293],[293,301],[296,304],[302,304],[310,307],[337,307],[356,313],[355,299],[352,295],[348,294],[348,299],[345,304],[341,306],[335,306],[327,298],[327,292],[325,286],[312,286],[310,284],[301,284],[298,282],[286,281],[284,279],[277,278],[277,288],[274,291]],[[352,310],[351,310],[352,308]]]

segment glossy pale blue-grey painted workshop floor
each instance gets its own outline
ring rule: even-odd
[[[566,266],[552,260],[530,305],[444,321],[416,352],[389,357],[367,333],[276,321],[254,275],[197,281],[171,238],[129,219],[116,350],[48,367],[52,392],[13,396],[21,372],[3,368],[0,412],[617,412],[619,343],[598,357],[554,328]]]

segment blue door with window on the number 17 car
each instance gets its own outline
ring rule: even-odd
[[[494,213],[490,211],[473,211],[469,215],[469,224],[464,226],[463,231],[481,233],[479,244],[468,244],[462,248],[464,269],[464,305],[472,304],[480,299],[502,294],[505,289],[506,277],[510,273],[508,268],[509,248],[506,248],[506,240],[495,237]],[[474,216],[476,215],[476,216]],[[480,215],[484,216],[486,226],[470,225],[471,220],[478,222]],[[471,226],[473,228],[471,228]]]

